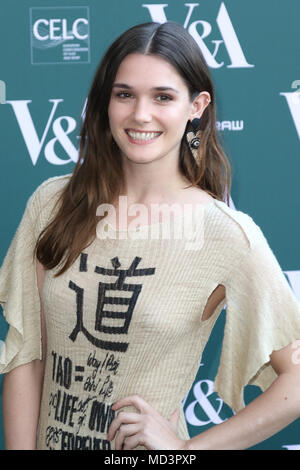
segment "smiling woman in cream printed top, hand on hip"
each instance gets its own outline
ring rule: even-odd
[[[213,84],[184,28],[112,44],[79,157],[31,196],[0,271],[6,447],[245,449],[295,420],[300,305],[228,207]],[[215,390],[236,414],[190,439],[181,402],[225,300]],[[264,393],[244,408],[248,383]]]

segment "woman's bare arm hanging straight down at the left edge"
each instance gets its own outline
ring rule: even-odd
[[[37,261],[41,298],[45,271]],[[35,450],[45,370],[46,325],[41,302],[42,360],[11,370],[3,380],[3,424],[6,450]]]

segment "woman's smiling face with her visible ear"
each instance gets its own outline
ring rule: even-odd
[[[206,97],[202,98],[204,103]],[[197,110],[199,103],[191,103],[186,84],[166,60],[135,53],[121,63],[108,117],[125,161],[150,163],[171,158],[177,162],[186,124]]]

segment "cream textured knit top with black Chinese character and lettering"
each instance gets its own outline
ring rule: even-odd
[[[10,328],[1,373],[41,359],[32,250],[70,176],[50,178],[32,194],[4,258],[0,303]],[[175,217],[170,225],[180,221]],[[244,407],[245,385],[264,391],[276,379],[269,355],[300,339],[300,304],[261,229],[215,199],[203,206],[195,227],[198,236],[187,249],[183,237],[137,238],[106,224],[63,275],[53,277],[61,266],[46,271],[47,356],[37,449],[114,449],[106,439],[115,416],[111,405],[133,394],[165,418],[179,406],[178,432],[188,439],[182,400],[224,305],[215,391],[237,412]],[[164,223],[151,228],[163,230]],[[226,298],[203,321],[220,284]]]

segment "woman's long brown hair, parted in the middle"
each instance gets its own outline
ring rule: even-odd
[[[100,204],[111,204],[124,187],[119,149],[109,128],[108,105],[112,84],[123,59],[131,53],[157,55],[168,61],[184,79],[193,97],[208,91],[211,103],[200,120],[203,131],[198,148],[201,164],[192,157],[185,135],[179,165],[182,175],[214,198],[229,205],[231,167],[218,141],[213,83],[205,59],[192,36],[174,22],[144,23],[117,38],[105,53],[89,91],[80,132],[79,158],[57,201],[59,210],[40,233],[35,247],[45,269],[64,260],[55,277],[65,272],[96,237]],[[190,128],[187,123],[186,132]]]

